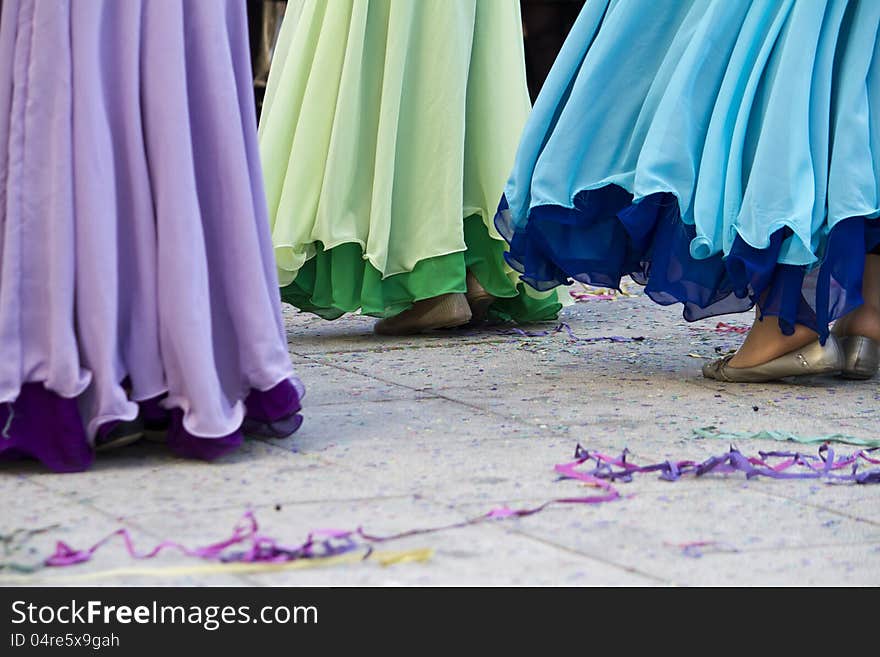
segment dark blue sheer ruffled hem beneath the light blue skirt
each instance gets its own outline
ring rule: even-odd
[[[572,279],[620,289],[621,277],[628,274],[657,303],[684,304],[687,321],[758,304],[762,316],[779,318],[783,333],[802,324],[823,341],[832,321],[863,303],[864,258],[859,256],[880,244],[877,220],[853,217],[838,223],[819,267],[777,262],[791,234],[787,228],[773,233],[764,249],[737,236],[726,258],[698,260],[690,253],[696,231],[681,220],[673,194],[632,201],[625,189],[608,185],[578,194],[574,208],[532,208],[525,225],[514,228],[502,198],[495,226],[510,245],[508,263],[537,290]]]

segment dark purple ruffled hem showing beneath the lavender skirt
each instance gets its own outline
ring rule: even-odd
[[[289,436],[302,424],[301,384],[286,379],[266,391],[252,390],[245,400],[245,421],[219,438],[200,438],[183,426],[183,411],[161,407],[161,398],[140,403],[148,429],[167,432],[175,454],[210,461],[241,445],[244,435]],[[76,399],[60,397],[41,383],[26,383],[12,403],[0,404],[0,460],[35,458],[56,472],[88,469],[95,459]]]

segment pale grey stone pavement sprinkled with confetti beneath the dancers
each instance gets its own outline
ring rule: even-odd
[[[162,539],[205,544],[227,536],[247,509],[287,544],[314,528],[389,534],[452,524],[500,505],[590,494],[553,472],[577,443],[628,447],[637,462],[656,462],[725,452],[727,443],[693,436],[707,425],[877,437],[876,381],[702,379],[698,357],[740,340],[713,330],[719,318],[687,324],[678,308],[636,294],[577,303],[563,319],[579,337],[645,340],[578,343],[565,333],[498,329],[377,338],[370,318],[324,322],[288,307],[291,358],[308,388],[299,433],[252,440],[214,464],[140,443],[82,474],[0,466],[0,534],[52,527],[7,544],[5,556],[0,545],[0,562],[33,563],[56,540],[86,547],[120,527],[141,549]],[[794,449],[768,440],[737,446]],[[2,569],[0,584],[880,584],[880,486],[738,474],[668,483],[647,474],[619,489],[623,499],[598,506],[556,506],[377,547],[433,549],[424,562],[242,571],[174,552],[136,562],[117,540],[78,566]],[[680,546],[691,542],[711,545],[688,554]]]

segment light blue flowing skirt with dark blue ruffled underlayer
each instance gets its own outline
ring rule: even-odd
[[[587,2],[496,216],[522,280],[827,335],[880,243],[880,3]]]

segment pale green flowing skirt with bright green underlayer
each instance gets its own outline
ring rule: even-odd
[[[293,0],[260,147],[283,298],[395,315],[464,292],[551,319],[492,219],[529,112],[516,0]]]

